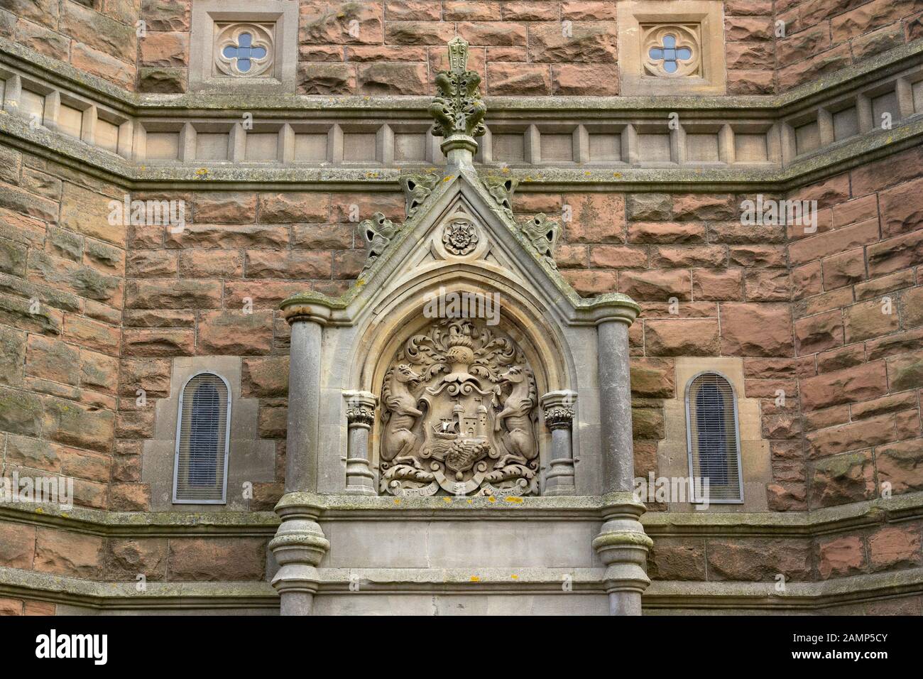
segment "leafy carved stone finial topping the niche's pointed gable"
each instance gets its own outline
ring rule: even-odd
[[[442,137],[443,152],[458,148],[462,143],[477,149],[474,137],[486,131],[484,116],[487,107],[481,99],[481,77],[468,67],[468,42],[456,36],[449,42],[448,71],[436,76],[438,95],[429,104],[429,114],[436,119],[433,135]]]

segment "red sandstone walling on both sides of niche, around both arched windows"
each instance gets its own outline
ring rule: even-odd
[[[275,308],[306,287],[341,293],[366,256],[352,206],[401,220],[402,196],[136,194],[186,200],[191,224],[176,235],[108,224],[117,188],[18,152],[4,159],[6,469],[74,476],[85,506],[144,509],[141,442],[172,358],[242,356],[260,436],[277,441],[276,481],[258,484],[253,503],[270,508],[288,351]],[[641,303],[631,329],[639,473],[655,470],[662,399],[682,388],[673,357],[736,356],[772,442],[773,509],[868,500],[885,481],[893,493],[923,489],[920,176],[913,150],[797,191],[821,209],[808,236],[739,224],[742,195],[516,196],[521,218],[569,208],[557,258],[581,294],[619,290]],[[148,406],[136,405],[138,389]]]

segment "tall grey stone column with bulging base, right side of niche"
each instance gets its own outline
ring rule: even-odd
[[[629,326],[638,306],[628,297],[601,300],[598,333],[600,437],[603,449],[603,527],[593,549],[605,564],[605,590],[612,615],[641,615],[641,593],[651,584],[644,571],[653,545],[644,534],[644,505],[632,494]]]

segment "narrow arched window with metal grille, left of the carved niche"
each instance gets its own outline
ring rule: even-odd
[[[223,504],[227,491],[231,390],[214,372],[198,372],[179,396],[174,503]]]

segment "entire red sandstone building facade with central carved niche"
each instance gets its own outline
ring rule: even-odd
[[[0,0],[0,93],[0,611],[923,612],[920,0]]]

